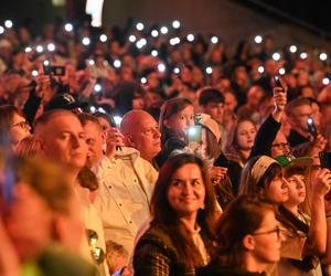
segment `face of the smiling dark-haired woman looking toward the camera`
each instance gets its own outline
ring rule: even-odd
[[[196,216],[205,198],[205,187],[197,164],[186,163],[173,173],[167,197],[180,217]]]

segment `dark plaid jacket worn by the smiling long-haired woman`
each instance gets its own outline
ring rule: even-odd
[[[180,258],[170,236],[149,229],[139,240],[134,255],[135,276],[194,276],[195,269]]]

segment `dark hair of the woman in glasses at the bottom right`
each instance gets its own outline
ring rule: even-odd
[[[222,214],[216,226],[217,252],[215,264],[225,263],[232,267],[243,267],[246,251],[243,238],[256,232],[267,212],[276,209],[265,197],[258,194],[239,195]]]

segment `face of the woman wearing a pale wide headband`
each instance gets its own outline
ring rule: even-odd
[[[266,194],[269,200],[275,203],[284,203],[288,201],[288,183],[284,177],[276,177],[266,188]]]

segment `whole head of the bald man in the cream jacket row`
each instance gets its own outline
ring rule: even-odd
[[[140,156],[150,163],[161,151],[159,125],[147,112],[128,112],[121,120],[120,131],[125,136],[125,145],[138,149]]]

